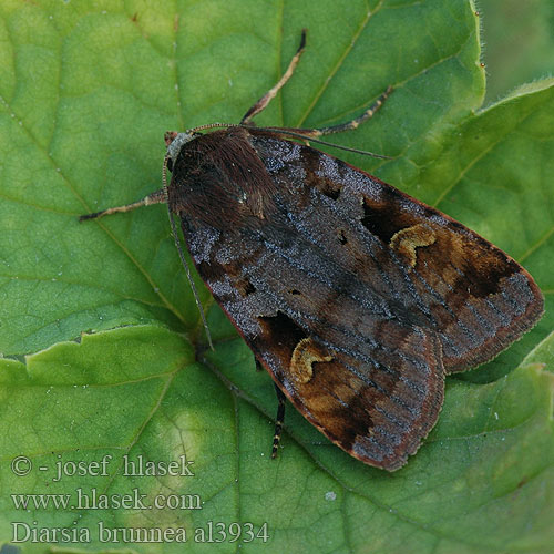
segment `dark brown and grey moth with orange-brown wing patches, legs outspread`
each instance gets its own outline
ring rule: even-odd
[[[305,38],[240,123],[166,133],[163,189],[81,219],[166,202],[198,274],[276,383],[274,453],[286,398],[342,450],[393,471],[435,424],[444,376],[520,338],[543,297],[478,234],[309,145],[371,117],[390,88],[342,125],[252,123]]]

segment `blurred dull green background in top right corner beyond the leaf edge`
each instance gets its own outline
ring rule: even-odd
[[[554,1],[481,0],[489,105],[520,84],[554,74]]]

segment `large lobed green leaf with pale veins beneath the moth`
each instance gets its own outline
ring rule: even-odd
[[[258,123],[348,121],[392,84],[372,121],[332,137],[392,160],[340,157],[497,244],[545,293],[532,332],[448,379],[438,425],[394,474],[353,460],[293,409],[269,460],[271,380],[199,281],[216,351],[195,353],[203,330],[164,206],[78,223],[160,188],[166,130],[237,122],[304,27],[306,53]],[[550,552],[554,82],[479,111],[470,2],[7,0],[0,37],[0,540],[17,538],[22,522],[90,531],[90,543],[59,538],[61,548],[182,552],[167,536],[101,536],[102,522],[127,533],[184,527],[199,552]],[[194,476],[124,475],[125,455],[184,455]],[[16,474],[17,456],[28,474]],[[78,474],[57,480],[59,463]],[[24,510],[12,497],[74,503],[80,488],[184,505]],[[211,521],[226,525],[225,541],[195,542]],[[247,523],[267,523],[269,541],[244,542]],[[30,538],[23,552],[55,543]]]

